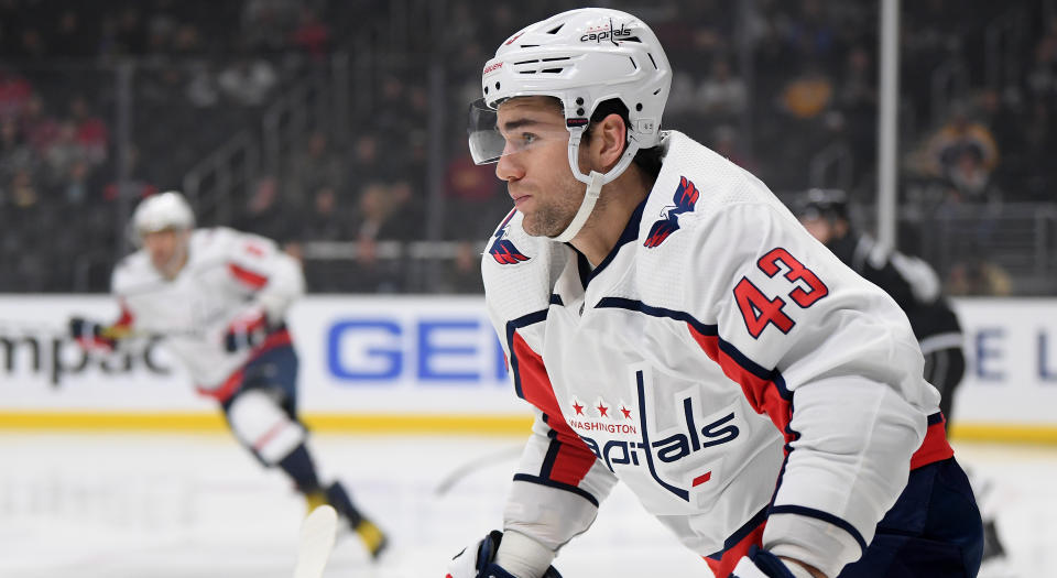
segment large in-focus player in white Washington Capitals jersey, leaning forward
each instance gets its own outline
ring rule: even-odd
[[[503,530],[448,575],[558,576],[618,480],[716,576],[976,575],[980,515],[906,316],[763,183],[661,131],[669,84],[615,10],[484,65],[470,149],[514,210],[482,273],[536,421]]]

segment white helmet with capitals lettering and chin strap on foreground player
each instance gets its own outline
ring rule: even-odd
[[[661,117],[672,85],[672,68],[657,36],[644,22],[619,10],[582,8],[532,24],[512,35],[481,74],[483,98],[470,107],[473,161],[495,162],[505,141],[495,127],[495,109],[521,96],[549,96],[564,108],[569,166],[588,184],[580,211],[556,240],[571,239],[587,220],[601,186],[621,175],[639,149],[661,142]],[[601,175],[579,170],[580,138],[600,102],[617,99],[628,108],[628,146],[617,165]]]

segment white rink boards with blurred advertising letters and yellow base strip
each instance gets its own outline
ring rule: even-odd
[[[955,435],[1057,441],[1057,299],[956,302],[968,370]],[[164,347],[88,356],[72,315],[112,319],[105,296],[0,297],[0,427],[209,429]],[[318,430],[522,433],[530,414],[509,384],[480,297],[312,296],[291,312],[302,412]]]

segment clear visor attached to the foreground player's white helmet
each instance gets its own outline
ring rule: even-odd
[[[562,123],[542,122],[534,118],[512,118],[500,130],[499,113],[478,99],[470,105],[469,135],[470,154],[477,164],[498,162],[502,156],[520,153],[547,142],[568,143],[569,131]]]

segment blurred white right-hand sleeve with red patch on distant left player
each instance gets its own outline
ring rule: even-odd
[[[301,263],[270,239],[232,231],[226,253],[232,281],[253,295],[271,321],[281,320],[305,293]]]

